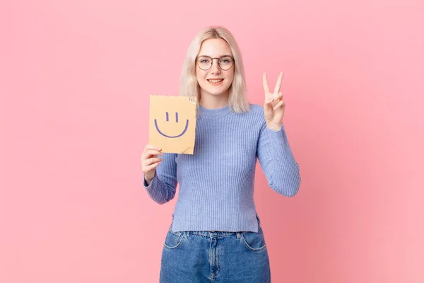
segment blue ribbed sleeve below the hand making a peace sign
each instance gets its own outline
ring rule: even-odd
[[[300,187],[300,169],[288,144],[284,126],[278,131],[261,126],[257,156],[272,190],[293,197]]]

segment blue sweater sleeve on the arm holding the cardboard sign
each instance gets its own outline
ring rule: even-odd
[[[160,156],[159,156],[160,157]],[[143,174],[143,186],[148,195],[158,204],[165,204],[175,197],[177,189],[177,154],[163,154],[163,161],[156,167],[155,177],[147,185]]]

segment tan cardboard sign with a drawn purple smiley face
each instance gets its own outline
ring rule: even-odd
[[[193,154],[196,98],[150,96],[149,141],[162,152]]]

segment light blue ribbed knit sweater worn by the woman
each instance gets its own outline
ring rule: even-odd
[[[144,180],[148,195],[158,204],[172,200],[179,184],[173,231],[258,232],[257,160],[272,190],[285,197],[298,192],[300,170],[284,126],[269,129],[264,108],[250,106],[244,113],[233,112],[228,105],[199,106],[194,154],[164,153],[151,183]]]

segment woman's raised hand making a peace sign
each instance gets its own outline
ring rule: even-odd
[[[264,91],[265,91],[265,103],[264,103],[264,116],[266,125],[269,129],[278,131],[281,124],[283,124],[283,117],[285,111],[285,102],[283,101],[283,93],[280,92],[281,81],[283,80],[284,73],[281,72],[278,76],[276,88],[274,92],[269,91],[268,80],[266,79],[266,73],[264,73]]]

